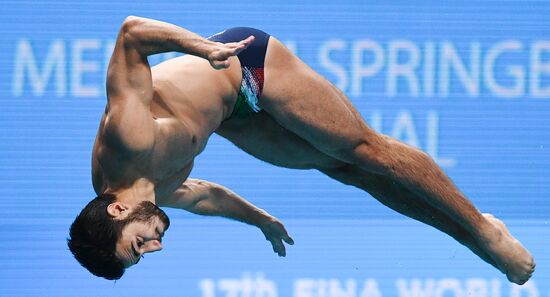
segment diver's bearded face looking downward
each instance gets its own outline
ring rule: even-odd
[[[128,215],[126,220],[130,222],[122,229],[122,236],[116,244],[116,256],[125,268],[137,264],[143,254],[160,251],[164,231],[170,224],[160,208],[150,202],[144,203]]]

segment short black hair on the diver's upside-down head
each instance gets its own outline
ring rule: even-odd
[[[69,231],[67,245],[80,265],[95,276],[116,280],[124,274],[124,265],[115,255],[116,243],[122,235],[125,220],[114,220],[107,206],[116,196],[101,194],[76,217]]]

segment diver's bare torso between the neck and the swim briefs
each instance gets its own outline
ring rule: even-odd
[[[175,191],[189,176],[193,160],[210,135],[233,109],[241,82],[240,64],[232,57],[225,70],[186,55],[151,68],[151,113],[161,135],[146,155],[110,145],[103,115],[92,155],[96,193],[146,178],[155,184],[157,199]]]

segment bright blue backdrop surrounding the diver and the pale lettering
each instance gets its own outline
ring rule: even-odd
[[[230,296],[223,280],[263,276],[277,296],[361,296],[365,279],[374,279],[381,296],[415,296],[399,291],[399,281],[417,279],[438,289],[416,296],[550,296],[550,96],[537,97],[530,82],[533,44],[550,42],[550,3],[546,1],[2,1],[0,10],[0,296]],[[286,258],[271,252],[254,227],[219,218],[168,210],[172,227],[164,250],[151,254],[119,281],[92,277],[66,248],[68,228],[94,197],[91,147],[105,105],[105,64],[109,44],[127,15],[172,22],[208,36],[233,26],[257,27],[278,37],[312,68],[343,88],[365,119],[381,132],[428,147],[437,117],[437,154],[456,164],[446,172],[483,212],[503,219],[534,254],[537,272],[523,291],[498,271],[430,227],[382,207],[366,193],[313,171],[262,163],[214,136],[197,158],[192,176],[223,184],[279,217],[296,245]],[[97,66],[81,75],[82,85],[100,93],[78,96],[71,88],[75,44],[93,40],[82,53]],[[330,40],[343,47],[330,52],[347,78],[321,63]],[[362,78],[354,92],[354,45],[370,40],[384,53],[379,71]],[[495,60],[493,76],[512,87],[509,66],[523,69],[523,90],[512,98],[492,91],[484,79],[488,52],[505,41],[521,48]],[[389,48],[407,41],[419,51],[414,94],[403,77],[396,94],[388,91]],[[39,72],[53,44],[62,46],[65,65],[43,92],[33,91],[28,68],[16,75],[22,44],[30,44]],[[441,48],[447,43],[470,69],[479,45],[478,92],[469,92],[451,70],[448,92],[441,91]],[[426,44],[435,47],[433,94],[424,88]],[[397,55],[407,63],[410,52]],[[151,58],[152,64],[167,58]],[[372,63],[364,52],[359,63]],[[550,63],[550,49],[538,57]],[[61,64],[56,64],[61,66]],[[361,65],[359,65],[361,66]],[[438,70],[439,69],[439,70]],[[64,77],[63,77],[64,75]],[[541,89],[550,88],[550,71],[541,70]],[[17,84],[22,83],[18,89]],[[548,92],[547,92],[548,93]],[[408,128],[395,130],[409,119]],[[432,125],[432,126],[430,126]],[[400,126],[404,127],[404,126]],[[401,133],[401,132],[403,133]],[[412,135],[413,133],[414,135]],[[414,136],[414,137],[413,137]],[[434,134],[432,134],[434,136]],[[414,138],[417,141],[414,141]],[[433,138],[432,138],[433,139]],[[348,295],[298,294],[294,285],[309,278],[357,281]],[[214,284],[214,295],[201,281]],[[472,279],[493,291],[468,290]],[[449,285],[449,283],[451,285]],[[495,285],[499,286],[498,294]],[[316,288],[322,285],[317,286]],[[487,285],[489,286],[489,285]],[[452,287],[454,289],[445,289]],[[255,287],[257,288],[257,287]],[[459,289],[457,289],[459,288]],[[514,291],[516,290],[516,291]],[[433,293],[433,294],[432,294]],[[520,295],[514,295],[514,294]],[[264,296],[239,292],[233,296]],[[256,295],[254,295],[256,294]],[[305,294],[305,295],[304,295]],[[324,295],[323,295],[324,294]],[[378,296],[368,295],[365,296]],[[492,295],[491,295],[492,294]],[[265,295],[271,296],[271,295]]]

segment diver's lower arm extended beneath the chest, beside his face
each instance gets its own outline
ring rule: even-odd
[[[222,216],[257,226],[279,256],[286,254],[282,240],[294,244],[284,226],[276,218],[231,190],[212,182],[188,179],[159,205],[181,208],[200,215]]]

